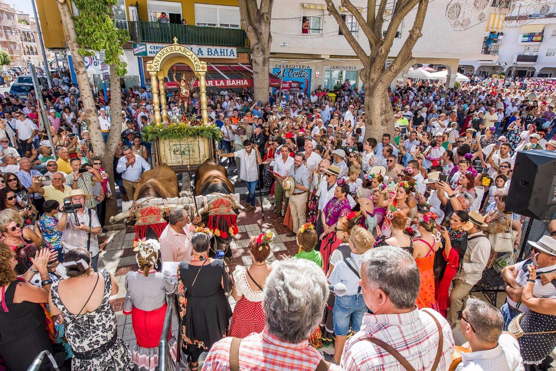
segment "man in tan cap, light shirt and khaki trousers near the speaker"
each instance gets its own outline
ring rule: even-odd
[[[458,310],[465,308],[469,298],[469,291],[483,277],[483,270],[490,256],[490,241],[483,233],[481,227],[488,227],[484,216],[476,211],[469,212],[469,221],[473,225],[467,231],[467,250],[463,255],[463,265],[452,281],[450,293],[450,308],[446,319],[454,328],[458,323]]]

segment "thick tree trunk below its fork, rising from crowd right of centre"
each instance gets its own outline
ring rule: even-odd
[[[394,135],[392,105],[388,97],[388,85],[365,83],[365,139],[380,142],[384,133]]]

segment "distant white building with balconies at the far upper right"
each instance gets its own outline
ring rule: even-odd
[[[485,40],[491,32],[498,37],[489,47],[490,55],[496,54],[497,60],[462,60],[461,70],[476,75],[504,72],[507,76],[556,77],[556,15],[538,18],[538,14],[532,14],[522,25],[511,21],[510,16],[498,27],[486,25]]]

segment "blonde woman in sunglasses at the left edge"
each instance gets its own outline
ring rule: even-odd
[[[31,227],[23,226],[23,218],[12,209],[0,212],[0,233],[2,242],[15,251],[22,244],[42,244],[42,234],[35,224]]]

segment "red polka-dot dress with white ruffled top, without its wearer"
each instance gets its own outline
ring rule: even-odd
[[[261,333],[265,328],[265,313],[262,310],[262,290],[254,291],[247,281],[247,269],[238,265],[234,271],[234,283],[237,295],[243,295],[236,303],[230,336],[245,338],[252,333]]]

